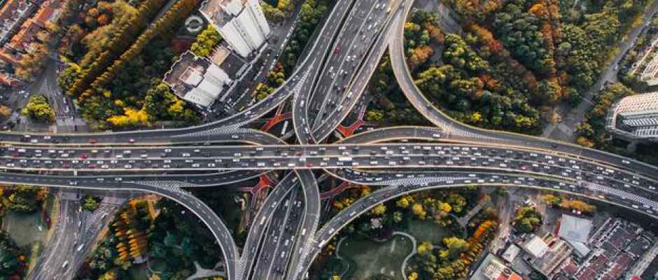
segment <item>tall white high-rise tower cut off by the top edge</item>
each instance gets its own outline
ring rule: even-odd
[[[269,36],[269,25],[258,0],[207,0],[200,11],[242,57],[260,50]]]

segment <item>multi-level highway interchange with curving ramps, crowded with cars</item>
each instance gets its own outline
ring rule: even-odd
[[[155,193],[216,237],[228,279],[302,279],[321,247],[375,205],[427,188],[517,186],[600,200],[658,218],[658,168],[572,144],[469,127],[423,97],[405,62],[410,0],[339,0],[307,57],[267,98],[214,123],[104,134],[0,135],[0,183]],[[322,144],[353,109],[386,48],[407,99],[436,127],[386,127]],[[243,128],[290,99],[298,145]],[[244,248],[183,188],[286,172]],[[382,186],[321,228],[316,173]],[[241,252],[241,253],[240,253]]]

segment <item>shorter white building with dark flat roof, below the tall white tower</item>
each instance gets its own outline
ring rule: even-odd
[[[207,107],[228,90],[245,68],[244,60],[220,46],[210,57],[184,52],[162,80],[181,99]]]

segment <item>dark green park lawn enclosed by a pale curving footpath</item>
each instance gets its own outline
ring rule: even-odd
[[[412,252],[412,241],[400,235],[385,242],[346,237],[338,250],[342,258],[350,258],[356,263],[356,272],[351,279],[369,279],[379,274],[402,279],[402,261]]]

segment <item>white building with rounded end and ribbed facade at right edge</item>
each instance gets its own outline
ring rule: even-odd
[[[658,141],[658,92],[624,97],[608,112],[606,128],[621,137]]]

